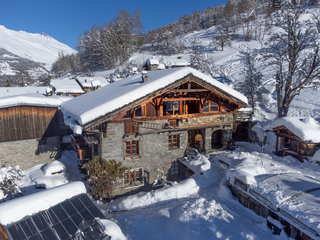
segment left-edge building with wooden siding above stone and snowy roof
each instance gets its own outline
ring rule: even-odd
[[[1,165],[24,170],[59,158],[60,105],[69,99],[40,93],[0,97]]]

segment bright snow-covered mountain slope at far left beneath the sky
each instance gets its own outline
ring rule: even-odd
[[[44,33],[13,31],[0,25],[0,81],[11,80],[21,72],[37,78],[51,70],[59,52],[76,51]]]

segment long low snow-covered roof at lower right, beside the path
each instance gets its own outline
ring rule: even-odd
[[[239,179],[247,189],[239,188],[251,197],[273,211],[290,216],[293,222],[299,220],[299,225],[305,225],[304,229],[320,234],[319,179],[275,162],[266,154],[234,153],[232,156],[237,154],[239,157],[233,159],[233,166],[227,171],[228,181],[239,186],[235,178]]]

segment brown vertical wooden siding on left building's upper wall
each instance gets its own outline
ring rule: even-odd
[[[57,108],[17,106],[0,109],[0,142],[59,136]]]

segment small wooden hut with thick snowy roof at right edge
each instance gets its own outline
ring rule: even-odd
[[[265,127],[276,135],[276,152],[303,162],[320,149],[320,125],[309,117],[282,117]]]

